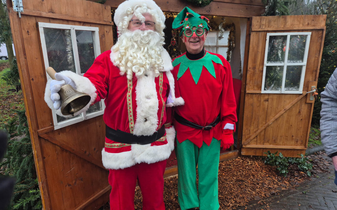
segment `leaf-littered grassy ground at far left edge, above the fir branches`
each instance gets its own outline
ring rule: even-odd
[[[0,72],[0,130],[4,130],[5,125],[16,117],[15,110],[25,109],[22,91],[9,91],[9,89],[14,87],[7,85],[6,82],[2,79],[2,75],[7,71],[9,71],[8,68]]]

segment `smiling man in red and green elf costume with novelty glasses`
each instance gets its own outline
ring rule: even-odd
[[[208,19],[185,7],[174,19],[186,53],[173,60],[176,97],[184,106],[174,108],[177,131],[178,201],[182,210],[219,208],[220,145],[234,143],[236,102],[228,61],[204,49]],[[196,187],[198,166],[198,192]]]

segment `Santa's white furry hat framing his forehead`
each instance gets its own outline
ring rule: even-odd
[[[126,0],[121,3],[115,10],[114,22],[116,26],[118,28],[127,28],[135,8],[142,6],[145,6],[150,10],[148,13],[150,13],[155,19],[156,29],[158,29],[158,31],[162,31],[165,28],[165,15],[153,0]]]

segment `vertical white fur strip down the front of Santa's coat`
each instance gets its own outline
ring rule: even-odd
[[[133,134],[136,136],[152,135],[158,127],[158,96],[154,79],[153,71],[148,71],[137,79],[137,116],[133,129]]]

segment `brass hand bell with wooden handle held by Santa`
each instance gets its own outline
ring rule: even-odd
[[[56,80],[56,72],[52,67],[48,67],[46,71],[53,80]],[[62,101],[62,115],[74,116],[74,113],[87,106],[91,99],[90,95],[75,90],[71,85],[63,85],[58,93]]]

